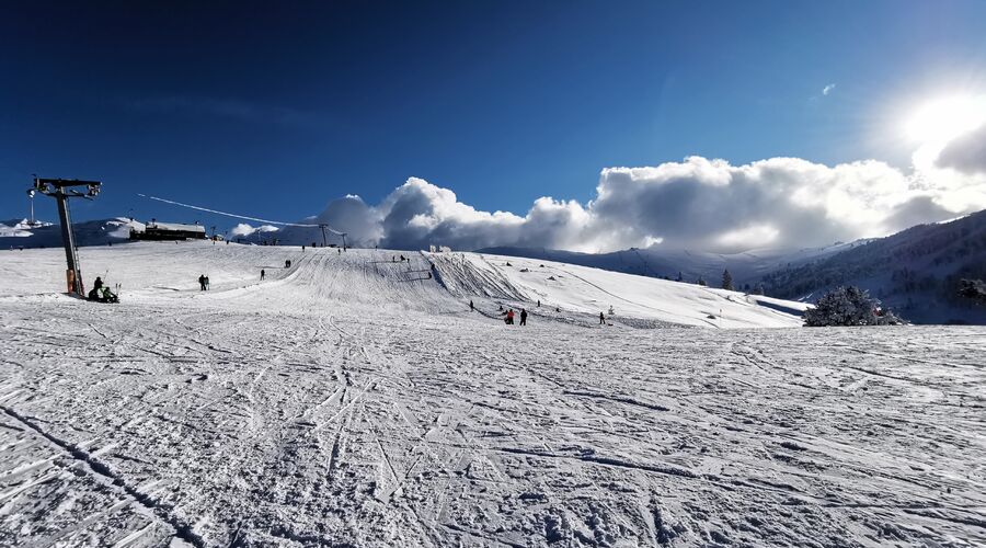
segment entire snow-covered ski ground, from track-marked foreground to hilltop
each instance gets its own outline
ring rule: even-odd
[[[0,251],[0,546],[986,544],[984,328],[470,253],[80,254],[123,302]]]

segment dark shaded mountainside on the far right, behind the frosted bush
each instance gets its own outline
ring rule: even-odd
[[[856,285],[914,322],[986,324],[986,307],[959,296],[962,278],[986,278],[986,210],[792,264],[763,282],[768,295],[812,301]]]

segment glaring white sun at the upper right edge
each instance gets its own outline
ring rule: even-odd
[[[983,96],[951,95],[920,106],[906,124],[907,136],[921,144],[945,144],[986,123]]]

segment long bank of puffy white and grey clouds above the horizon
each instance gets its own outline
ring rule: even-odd
[[[904,172],[875,160],[828,167],[798,158],[733,165],[689,157],[604,169],[591,202],[541,197],[524,215],[483,212],[451,190],[411,178],[376,206],[346,196],[306,222],[326,222],[358,246],[394,249],[600,252],[662,246],[740,252],[885,236],[982,208],[986,176],[948,168]],[[278,239],[309,243],[321,241],[321,233],[286,227]]]

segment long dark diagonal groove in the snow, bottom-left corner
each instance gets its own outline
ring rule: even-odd
[[[80,449],[77,445],[73,445],[48,433],[41,426],[36,425],[33,421],[28,420],[26,416],[21,415],[9,407],[0,406],[0,410],[2,410],[19,423],[36,432],[49,443],[67,453],[74,460],[84,465],[83,469],[85,469],[93,478],[102,480],[103,482],[108,482],[110,484],[123,490],[123,492],[129,495],[129,498],[133,499],[135,503],[139,504],[142,509],[170,525],[174,529],[175,537],[191,544],[195,548],[205,548],[207,546],[205,540],[198,534],[192,530],[192,527],[188,524],[184,523],[183,521],[174,516],[173,513],[169,512],[167,509],[158,504],[158,502],[154,501],[151,496],[148,496],[147,494],[140,492],[138,487],[131,486],[123,476],[114,472],[108,466],[93,458],[91,454],[87,453],[83,449]]]

